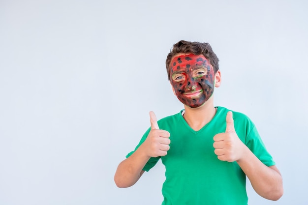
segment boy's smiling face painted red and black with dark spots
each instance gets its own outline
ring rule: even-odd
[[[213,66],[203,55],[184,54],[170,63],[170,81],[178,99],[191,108],[203,105],[213,94]]]

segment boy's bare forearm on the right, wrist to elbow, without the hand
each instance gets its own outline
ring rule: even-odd
[[[249,149],[237,163],[251,182],[253,189],[262,197],[278,200],[283,194],[282,177],[276,166],[264,165]]]

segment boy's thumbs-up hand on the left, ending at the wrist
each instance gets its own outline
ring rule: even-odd
[[[170,133],[160,130],[154,112],[150,112],[151,131],[142,146],[149,157],[166,156],[170,148]]]

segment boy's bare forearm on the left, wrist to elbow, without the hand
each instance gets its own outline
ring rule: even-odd
[[[140,146],[131,156],[119,164],[114,177],[116,185],[121,188],[134,185],[144,173],[142,169],[149,159],[150,157]]]

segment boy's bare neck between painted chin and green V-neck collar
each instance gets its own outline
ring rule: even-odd
[[[195,131],[200,130],[207,123],[209,123],[215,116],[216,108],[214,107],[212,97],[198,108],[190,108],[184,105],[185,106],[184,119],[193,130]]]

